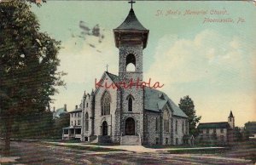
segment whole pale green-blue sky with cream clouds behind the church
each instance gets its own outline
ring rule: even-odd
[[[49,1],[32,6],[41,31],[61,41],[60,71],[67,88],[55,95],[56,108],[79,105],[84,90],[94,88],[103,71],[118,74],[118,49],[113,29],[130,10],[125,1]],[[144,80],[164,83],[163,92],[176,103],[184,95],[195,102],[201,122],[227,121],[236,125],[256,120],[256,6],[252,2],[166,2],[134,4],[138,20],[149,29],[143,52]],[[159,11],[162,15],[157,15]],[[207,14],[184,15],[185,11]],[[167,11],[180,14],[166,14]],[[212,14],[222,11],[224,14]],[[233,23],[203,23],[232,19]],[[241,19],[243,22],[237,23]],[[98,25],[102,38],[84,35],[81,26]],[[101,40],[99,42],[99,40]]]

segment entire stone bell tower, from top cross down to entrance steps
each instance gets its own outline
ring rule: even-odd
[[[118,88],[115,116],[115,137],[120,145],[143,144],[143,49],[148,43],[148,29],[131,9],[125,21],[113,29],[116,48],[119,48],[119,83],[130,84]],[[131,85],[131,80],[133,85]]]

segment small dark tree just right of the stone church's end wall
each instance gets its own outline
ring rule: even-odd
[[[178,104],[179,108],[189,117],[189,134],[196,135],[196,124],[201,120],[201,117],[195,115],[195,105],[189,95],[180,99]]]

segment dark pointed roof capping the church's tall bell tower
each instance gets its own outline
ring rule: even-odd
[[[118,26],[115,30],[136,30],[136,31],[148,31],[138,20],[133,11],[130,10],[125,21]]]

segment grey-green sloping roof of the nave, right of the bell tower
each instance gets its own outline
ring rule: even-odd
[[[163,94],[165,100],[159,97]],[[174,102],[163,92],[154,88],[144,88],[144,108],[149,111],[160,111],[168,103],[171,106],[172,114],[177,117],[188,117]]]

